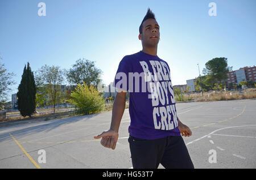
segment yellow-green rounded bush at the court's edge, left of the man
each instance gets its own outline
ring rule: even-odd
[[[83,84],[77,85],[75,91],[72,91],[71,99],[68,102],[77,106],[77,113],[79,114],[101,112],[105,105],[103,96],[92,85],[88,88],[84,82]]]

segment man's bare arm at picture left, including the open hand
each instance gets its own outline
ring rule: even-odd
[[[118,130],[125,111],[126,92],[118,92],[115,96],[112,110],[112,121],[108,131],[102,132],[98,136],[94,136],[94,139],[101,139],[101,145],[106,148],[115,149],[115,145],[118,140]]]

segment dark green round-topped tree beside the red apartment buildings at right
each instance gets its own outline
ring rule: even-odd
[[[225,83],[228,78],[228,72],[232,71],[232,67],[228,67],[227,58],[213,58],[212,60],[205,63],[203,74],[208,75],[209,82],[214,83]]]

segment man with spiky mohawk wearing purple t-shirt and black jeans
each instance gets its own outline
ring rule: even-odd
[[[94,138],[102,138],[104,147],[115,149],[129,90],[128,141],[133,168],[158,168],[160,163],[164,168],[194,168],[181,137],[191,136],[192,132],[177,118],[170,67],[157,56],[159,39],[159,25],[148,8],[139,27],[142,51],[126,55],[118,66],[113,83],[118,93],[110,129]]]

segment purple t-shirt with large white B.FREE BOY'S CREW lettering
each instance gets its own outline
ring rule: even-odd
[[[170,67],[142,51],[119,63],[113,86],[129,91],[129,134],[141,139],[180,136]]]

